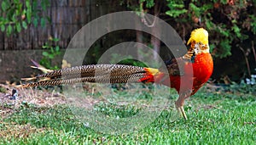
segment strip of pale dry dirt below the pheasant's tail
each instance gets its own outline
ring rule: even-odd
[[[92,109],[94,104],[106,101],[104,98],[93,98],[93,95],[85,95],[97,93],[94,84],[85,85],[84,90],[75,90],[71,93],[73,96],[65,96],[58,89],[36,89],[36,88],[19,88],[15,86],[0,84],[0,115],[3,118],[15,112],[20,108],[20,105],[33,104],[38,107],[52,107],[60,104],[72,104],[84,109]],[[14,96],[14,90],[17,95]],[[51,91],[50,91],[51,90]],[[82,94],[83,97],[79,97]]]

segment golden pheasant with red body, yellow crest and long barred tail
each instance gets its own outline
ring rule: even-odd
[[[178,111],[187,120],[183,109],[184,100],[194,95],[207,82],[213,70],[212,56],[209,53],[208,32],[203,28],[195,29],[192,31],[187,44],[190,44],[188,53],[181,58],[172,59],[166,64],[168,72],[122,64],[92,64],[53,70],[27,79],[39,81],[20,86],[56,86],[79,82],[154,82],[177,90],[179,97],[175,104]],[[182,79],[186,83],[181,83]]]

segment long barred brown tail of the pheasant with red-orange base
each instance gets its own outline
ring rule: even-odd
[[[156,72],[158,72],[157,69],[122,64],[82,65],[62,70],[54,70],[33,78],[27,78],[25,80],[34,80],[34,82],[29,82],[20,86],[57,86],[80,82],[154,82],[154,74]]]

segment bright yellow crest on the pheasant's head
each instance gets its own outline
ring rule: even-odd
[[[203,44],[208,44],[208,32],[203,28],[195,29],[191,32],[187,45],[189,45],[190,42],[202,42]]]

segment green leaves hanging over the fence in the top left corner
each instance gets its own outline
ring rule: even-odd
[[[46,11],[49,0],[40,2],[40,6]],[[22,29],[27,29],[28,25],[38,26],[38,20],[44,26],[47,18],[39,16],[41,10],[38,5],[38,0],[25,0],[24,3],[18,0],[3,0],[0,8],[1,31],[6,31],[7,36],[10,36],[13,32],[19,33]]]

